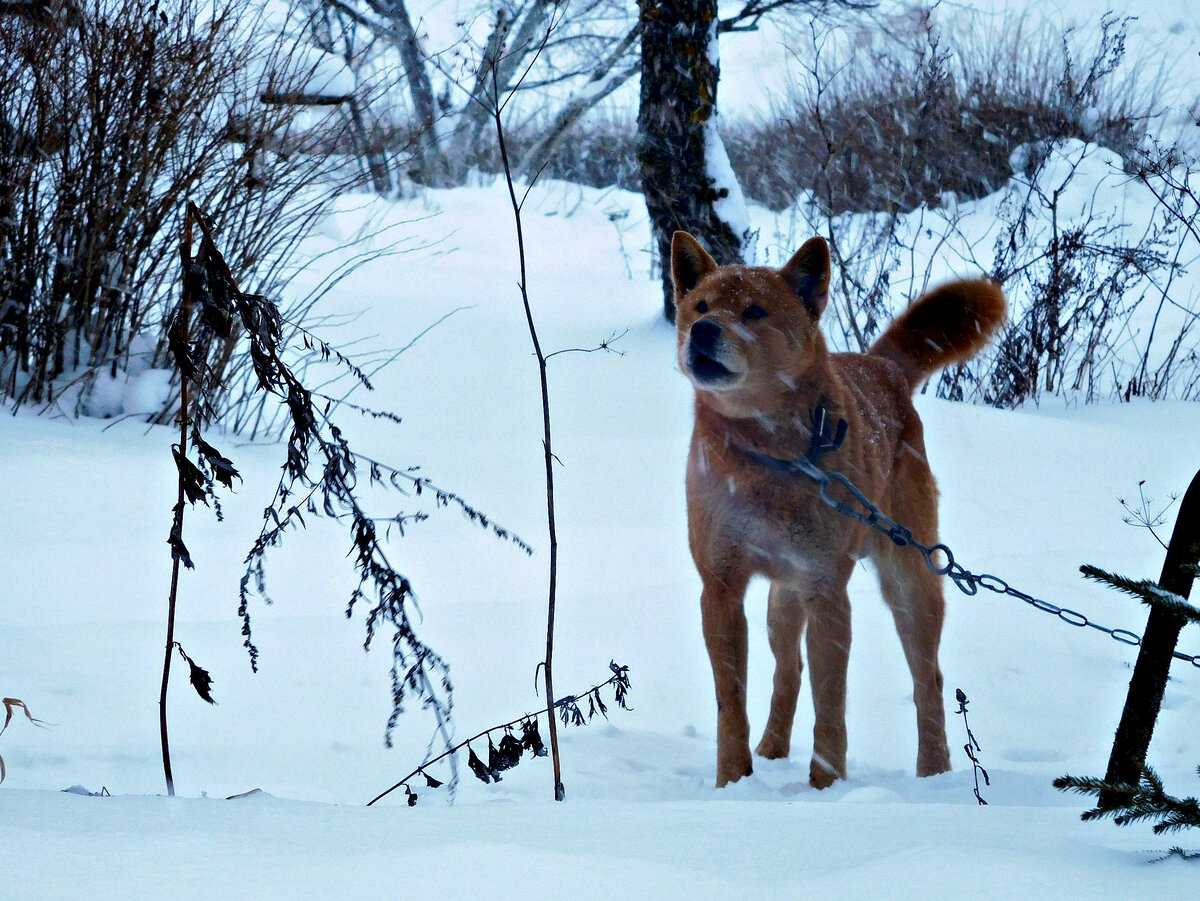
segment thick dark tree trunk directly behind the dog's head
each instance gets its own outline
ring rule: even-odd
[[[642,91],[637,161],[659,259],[671,235],[695,235],[721,264],[742,262],[743,235],[716,210],[736,184],[713,178],[716,138],[716,0],[640,0]],[[719,152],[724,155],[724,149]],[[662,304],[674,320],[671,268],[662,265]]]

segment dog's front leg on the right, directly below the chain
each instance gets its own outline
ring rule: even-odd
[[[850,662],[850,597],[846,579],[808,606],[809,680],[812,684],[812,763],[809,785],[828,788],[846,777],[846,667]]]

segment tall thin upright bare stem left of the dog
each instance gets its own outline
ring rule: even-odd
[[[492,78],[496,78],[496,67],[492,66]],[[529,325],[529,338],[533,341],[533,352],[538,358],[538,374],[541,379],[541,425],[542,425],[542,450],[546,457],[546,518],[550,524],[550,588],[547,591],[546,613],[546,717],[550,720],[550,753],[554,761],[554,800],[563,800],[566,789],[563,787],[563,770],[558,757],[558,726],[554,722],[554,600],[558,588],[558,531],[554,525],[554,451],[551,445],[550,431],[550,386],[546,380],[546,355],[542,353],[541,342],[538,340],[538,329],[533,320],[533,310],[529,306],[529,292],[526,281],[524,258],[524,232],[521,226],[521,202],[517,200],[516,188],[512,185],[512,168],[509,164],[509,151],[504,143],[504,125],[500,121],[500,103],[498,92],[493,91],[492,119],[496,122],[496,139],[499,145],[500,162],[504,166],[504,180],[509,187],[509,199],[512,202],[512,217],[517,228],[517,258],[521,265],[521,301],[524,305],[526,323]]]

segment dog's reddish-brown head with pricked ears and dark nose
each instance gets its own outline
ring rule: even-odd
[[[718,266],[695,238],[671,241],[679,367],[700,397],[755,415],[796,386],[824,352],[829,247],[808,241],[782,269]]]

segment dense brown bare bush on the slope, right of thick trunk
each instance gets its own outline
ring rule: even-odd
[[[1019,25],[983,43],[941,30],[929,10],[905,23],[907,34],[797,34],[794,90],[726,140],[749,197],[779,210],[811,191],[832,215],[908,211],[996,191],[1025,144],[1078,138],[1128,155],[1144,136],[1148,101],[1117,73],[1118,19],[1100,23],[1090,52]]]

